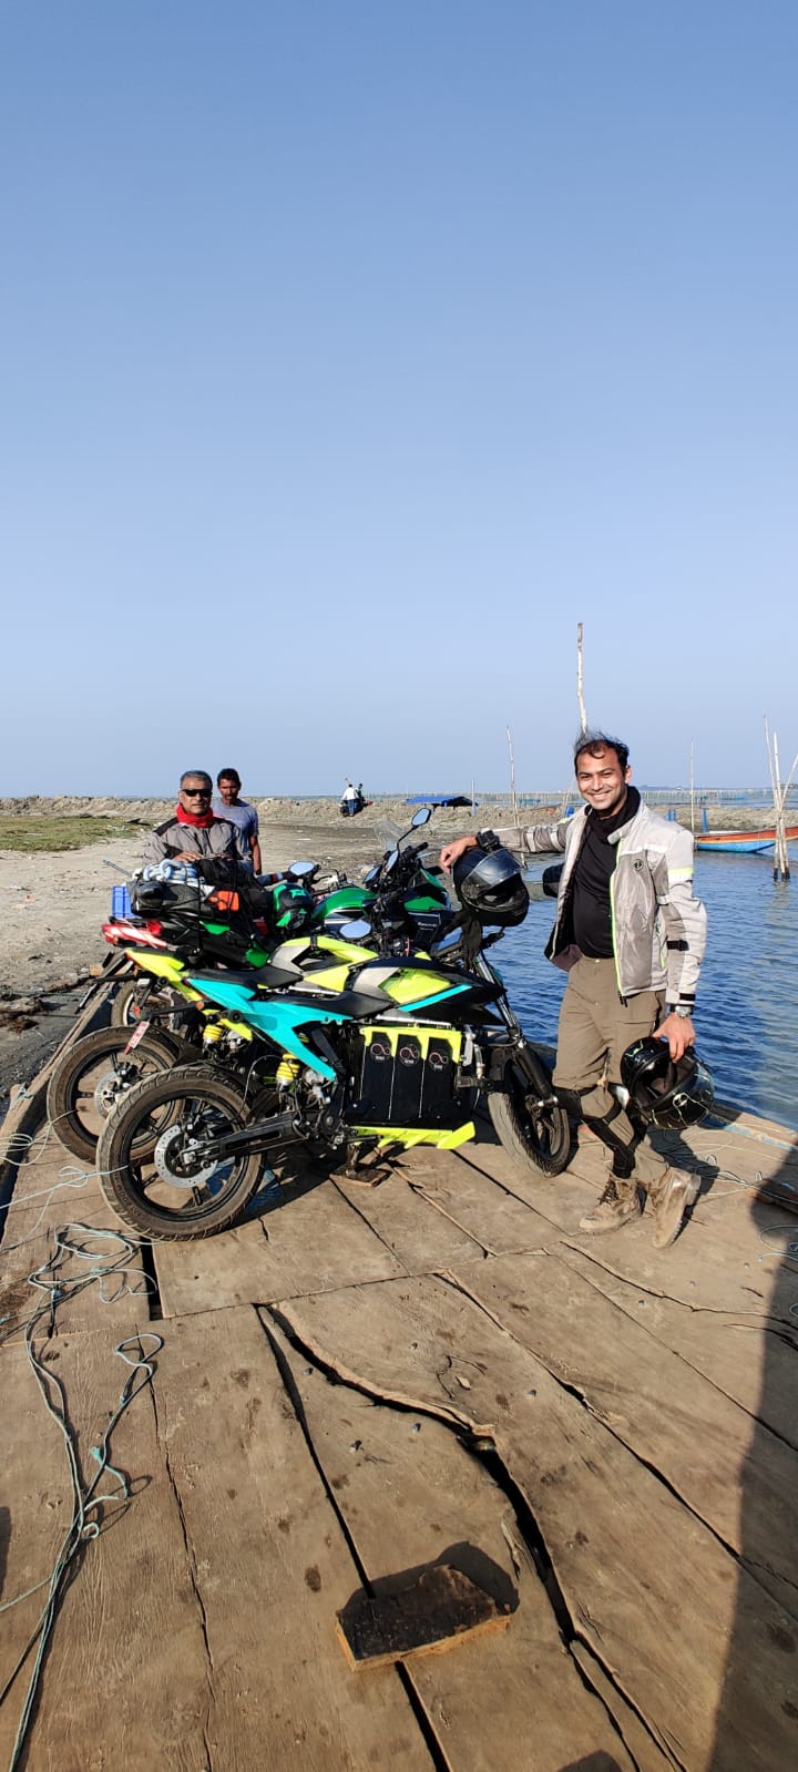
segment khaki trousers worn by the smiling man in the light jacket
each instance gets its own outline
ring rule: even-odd
[[[624,1003],[617,994],[615,962],[582,957],[571,966],[557,1031],[555,1088],[582,1097],[585,1120],[606,1120],[614,1138],[633,1148],[630,1180],[615,1180],[619,1194],[644,1187],[654,1194],[669,1164],[638,1132],[606,1088],[621,1083],[621,1056],[633,1040],[647,1038],[660,1024],[663,991],[642,991]]]

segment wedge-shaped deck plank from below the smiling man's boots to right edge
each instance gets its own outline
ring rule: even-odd
[[[718,1391],[773,1428],[798,1449],[794,1407],[798,1322],[789,1334],[770,1318],[734,1317],[724,1311],[681,1304],[658,1297],[633,1281],[612,1274],[592,1249],[560,1244],[560,1260],[612,1299],[633,1322],[644,1322],[649,1334],[674,1348],[690,1366],[702,1372]]]

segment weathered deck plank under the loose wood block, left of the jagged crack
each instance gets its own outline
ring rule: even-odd
[[[591,1753],[606,1754],[605,1765],[631,1767],[562,1644],[512,1508],[481,1460],[429,1416],[332,1384],[275,1327],[270,1333],[369,1579],[454,1558],[507,1604],[518,1597],[498,1639],[459,1639],[445,1657],[408,1664],[447,1767],[518,1765],[520,1742],[534,1742],[536,1772],[560,1772]],[[649,1747],[649,1768],[670,1765],[651,1738]]]

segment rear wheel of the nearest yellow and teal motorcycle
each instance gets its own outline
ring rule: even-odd
[[[154,1146],[153,1116],[158,1116]],[[238,1132],[248,1118],[250,1104],[234,1083],[202,1065],[179,1065],[167,1077],[140,1083],[98,1143],[98,1175],[108,1205],[153,1242],[197,1240],[227,1230],[257,1193],[264,1159],[243,1152],[192,1170],[183,1139],[186,1131],[188,1136]]]

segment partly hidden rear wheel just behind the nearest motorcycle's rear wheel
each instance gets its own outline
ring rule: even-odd
[[[50,1077],[48,1120],[60,1143],[85,1162],[94,1162],[99,1132],[122,1095],[177,1063],[179,1042],[160,1030],[145,1033],[126,1054],[133,1031],[99,1028],[83,1035],[60,1054]]]

